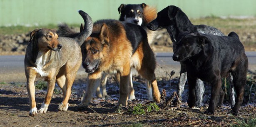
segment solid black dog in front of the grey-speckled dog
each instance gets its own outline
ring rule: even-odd
[[[224,94],[219,95],[219,93],[224,93],[221,89],[221,78],[228,77],[231,73],[237,93],[236,104],[231,112],[237,115],[244,99],[244,86],[248,71],[247,56],[238,35],[235,32],[231,32],[228,36],[184,33],[179,36],[175,45],[173,60],[182,61],[186,65],[189,107],[195,105],[196,79],[199,78],[211,84],[209,108],[204,113],[214,115],[217,101],[224,99]]]

